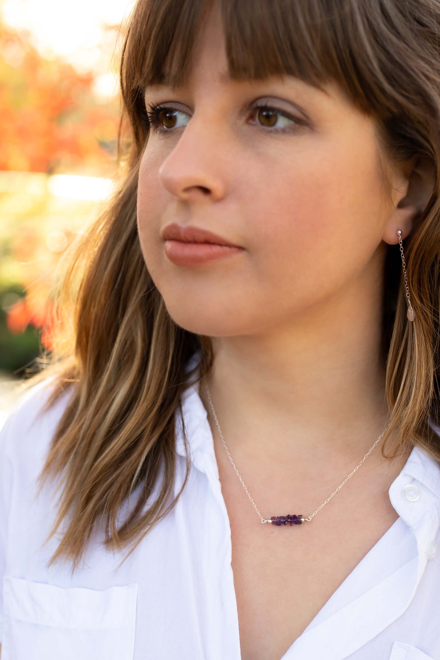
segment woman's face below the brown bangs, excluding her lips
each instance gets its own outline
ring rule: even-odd
[[[168,312],[212,337],[292,324],[349,291],[356,299],[380,284],[383,240],[398,242],[372,119],[336,85],[228,81],[217,11],[189,84],[146,89],[147,110],[166,112],[150,129],[137,200],[142,253]],[[241,249],[177,265],[161,235],[170,223]]]

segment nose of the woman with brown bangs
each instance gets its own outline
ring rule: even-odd
[[[159,168],[160,182],[176,199],[218,201],[226,193],[228,148],[212,126],[194,114]]]

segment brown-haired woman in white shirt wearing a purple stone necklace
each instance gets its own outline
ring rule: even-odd
[[[1,433],[2,660],[440,659],[439,43],[433,0],[138,1]]]

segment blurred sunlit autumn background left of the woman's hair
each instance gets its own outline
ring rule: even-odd
[[[0,0],[0,427],[50,350],[57,263],[113,184],[133,5]]]

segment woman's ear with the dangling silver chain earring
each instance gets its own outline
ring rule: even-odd
[[[416,155],[394,172],[393,210],[387,220],[382,239],[389,245],[398,243],[400,229],[402,239],[416,226],[418,218],[431,199],[435,187],[434,167],[427,156]]]

